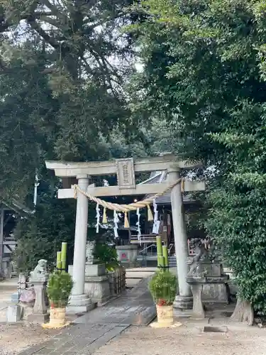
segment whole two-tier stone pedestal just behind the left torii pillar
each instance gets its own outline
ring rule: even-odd
[[[69,266],[68,272],[72,274],[72,266]],[[110,285],[104,264],[86,264],[84,293],[89,295],[93,304],[103,305],[109,300]]]

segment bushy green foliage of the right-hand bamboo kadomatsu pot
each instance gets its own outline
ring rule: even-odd
[[[177,294],[177,277],[170,271],[157,271],[149,283],[156,305],[172,305]]]

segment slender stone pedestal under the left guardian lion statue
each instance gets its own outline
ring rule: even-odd
[[[28,315],[27,320],[30,322],[43,324],[45,322],[48,322],[49,320],[45,300],[46,282],[34,281],[34,291],[35,303],[33,307],[33,313],[31,315]]]

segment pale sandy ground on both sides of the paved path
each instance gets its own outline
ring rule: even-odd
[[[225,324],[226,333],[204,333],[207,322],[184,321],[182,327],[154,329],[130,327],[93,355],[265,355],[266,329],[242,324]],[[34,324],[0,324],[0,355],[18,352],[45,342],[60,330],[44,330]],[[91,353],[89,353],[91,354]],[[87,355],[87,354],[84,354]]]

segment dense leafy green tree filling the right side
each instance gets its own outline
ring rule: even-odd
[[[144,104],[216,165],[206,229],[223,247],[239,295],[265,313],[265,4],[147,0],[134,11]]]

